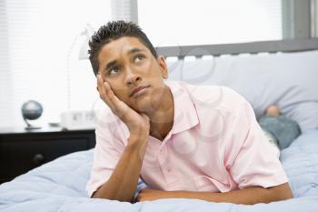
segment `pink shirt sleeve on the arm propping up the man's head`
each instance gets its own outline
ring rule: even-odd
[[[124,144],[118,140],[109,126],[97,125],[95,129],[96,146],[91,177],[86,185],[88,196],[111,177],[117,162],[124,152]]]

